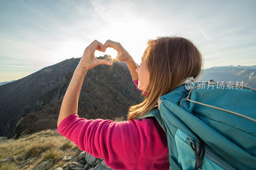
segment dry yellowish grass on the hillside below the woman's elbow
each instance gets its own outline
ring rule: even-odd
[[[66,155],[74,155],[79,149],[77,145],[61,135],[53,134],[54,130],[47,129],[29,134],[19,139],[9,139],[0,143],[0,159],[14,155],[26,154],[24,159],[36,157],[36,161],[27,169],[34,169],[41,162],[54,159],[54,167],[65,164],[62,158]],[[0,169],[19,169],[17,162],[4,163]],[[54,169],[54,168],[53,168]]]

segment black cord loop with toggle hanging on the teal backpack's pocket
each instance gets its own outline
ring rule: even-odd
[[[196,134],[195,134],[196,135]],[[192,142],[190,142],[190,146],[191,148],[193,149],[194,153],[195,153],[195,157],[196,157],[196,164],[195,164],[195,170],[197,170],[198,168],[200,169],[203,169],[203,164],[204,164],[204,154],[205,154],[205,145],[204,145],[204,141],[196,135],[196,137],[199,139],[199,152],[196,151],[196,141],[193,140],[194,142],[194,147],[192,145]],[[202,148],[203,148],[203,152],[202,152],[202,156],[200,157],[201,155],[201,151],[202,151]]]

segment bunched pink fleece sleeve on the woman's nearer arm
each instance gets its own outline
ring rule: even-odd
[[[148,143],[148,119],[114,122],[73,114],[60,122],[58,132],[113,169],[135,169]]]

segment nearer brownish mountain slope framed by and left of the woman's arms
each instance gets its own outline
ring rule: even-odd
[[[103,59],[103,57],[99,57]],[[35,104],[23,110],[10,137],[56,129],[60,107],[74,71],[66,74],[53,90],[45,92]],[[132,105],[142,102],[141,92],[130,71],[116,62],[88,70],[78,100],[78,115],[86,119],[127,117]]]

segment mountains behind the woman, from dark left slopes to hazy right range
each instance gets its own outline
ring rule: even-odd
[[[104,55],[98,59],[110,59]],[[60,106],[81,58],[70,58],[19,80],[0,86],[0,136],[56,129]],[[256,65],[218,66],[204,69],[200,81],[244,81],[256,87]],[[130,106],[143,100],[125,62],[99,65],[88,70],[79,96],[79,117],[127,117]],[[106,97],[107,96],[107,97]]]

